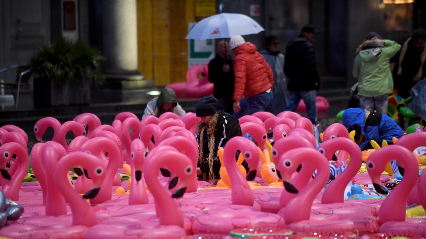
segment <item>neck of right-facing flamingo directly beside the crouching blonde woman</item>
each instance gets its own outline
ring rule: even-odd
[[[225,168],[231,182],[232,203],[238,205],[253,206],[253,192],[248,185],[247,180],[242,176],[235,162],[235,152],[238,150],[238,145],[233,142],[226,144],[224,152]]]

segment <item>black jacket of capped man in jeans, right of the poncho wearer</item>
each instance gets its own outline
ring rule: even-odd
[[[320,77],[312,43],[299,37],[287,44],[284,73],[288,78],[289,91],[320,89]]]

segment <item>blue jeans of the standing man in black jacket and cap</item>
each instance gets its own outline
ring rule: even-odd
[[[317,122],[317,92],[316,90],[311,91],[289,91],[288,92],[288,111],[296,111],[297,105],[301,99],[306,105],[306,118],[311,120],[312,124],[315,125]]]

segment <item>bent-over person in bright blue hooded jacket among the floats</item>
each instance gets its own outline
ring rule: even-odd
[[[392,138],[404,135],[401,127],[386,114],[364,111],[361,108],[348,108],[343,113],[343,125],[348,131],[355,131],[355,142],[361,150],[373,148],[370,140],[393,144]]]

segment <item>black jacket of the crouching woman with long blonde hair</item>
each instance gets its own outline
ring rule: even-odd
[[[225,130],[224,130],[225,128]],[[224,134],[225,131],[225,134]],[[231,139],[232,137],[236,136],[242,136],[241,128],[239,125],[238,120],[233,117],[230,114],[227,114],[223,111],[219,113],[219,120],[216,124],[215,133],[214,133],[214,139],[216,142],[215,145],[215,151],[214,156],[217,156],[217,150],[220,147],[225,147],[226,143]],[[200,135],[197,137],[197,141],[199,141]],[[203,134],[203,145],[200,145],[200,147],[203,147],[203,159],[207,159],[210,154],[209,145],[208,145],[208,139],[207,137],[207,131],[204,131]],[[220,169],[220,161],[219,158],[216,162],[213,163],[213,173],[215,174],[215,179],[220,179],[219,176],[219,169]],[[209,178],[209,163],[207,160],[204,160],[201,164],[198,163],[197,167],[201,169],[201,172],[206,173],[206,178]],[[199,176],[202,176],[199,175]]]

